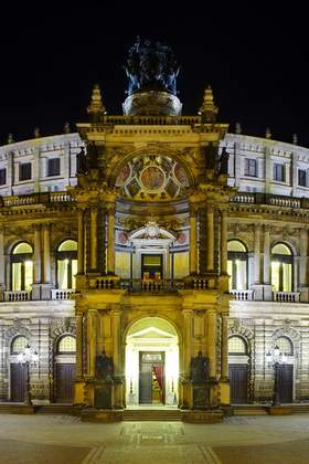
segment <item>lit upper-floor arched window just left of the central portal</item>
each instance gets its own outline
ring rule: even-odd
[[[56,252],[57,287],[75,288],[75,274],[77,274],[77,242],[66,240],[62,242]]]

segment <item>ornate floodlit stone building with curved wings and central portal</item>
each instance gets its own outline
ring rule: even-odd
[[[36,403],[263,403],[276,345],[281,402],[308,401],[309,150],[227,133],[210,87],[182,116],[175,67],[127,74],[124,115],[95,86],[78,134],[0,147],[1,400],[30,342]]]

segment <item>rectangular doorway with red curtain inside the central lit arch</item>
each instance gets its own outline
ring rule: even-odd
[[[164,403],[164,351],[139,352],[139,403]]]

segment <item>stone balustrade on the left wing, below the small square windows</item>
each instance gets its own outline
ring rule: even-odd
[[[41,192],[19,194],[13,197],[1,197],[0,207],[23,207],[26,204],[40,203],[64,203],[73,202],[75,199],[67,192]]]

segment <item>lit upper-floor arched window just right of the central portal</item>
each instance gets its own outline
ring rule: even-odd
[[[231,289],[247,289],[248,253],[238,240],[227,243],[227,273]]]

